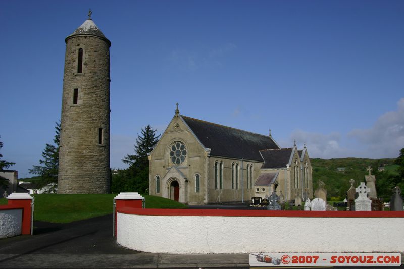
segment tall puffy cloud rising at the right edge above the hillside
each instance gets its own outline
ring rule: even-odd
[[[355,129],[349,138],[367,147],[371,158],[396,158],[404,147],[404,98],[397,102],[397,110],[380,116],[369,129]]]

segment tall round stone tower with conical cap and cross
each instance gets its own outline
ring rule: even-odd
[[[58,193],[108,193],[111,42],[91,11],[65,42]]]

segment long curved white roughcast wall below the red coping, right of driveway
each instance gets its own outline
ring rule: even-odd
[[[118,244],[155,253],[404,252],[404,218],[117,214]]]

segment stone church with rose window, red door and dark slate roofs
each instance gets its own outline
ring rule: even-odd
[[[269,136],[180,115],[149,154],[149,194],[181,203],[249,202],[276,191],[313,197],[306,146],[281,148]]]

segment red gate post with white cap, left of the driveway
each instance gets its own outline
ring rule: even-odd
[[[9,205],[23,207],[21,234],[32,235],[34,198],[28,193],[13,192],[6,197]]]

